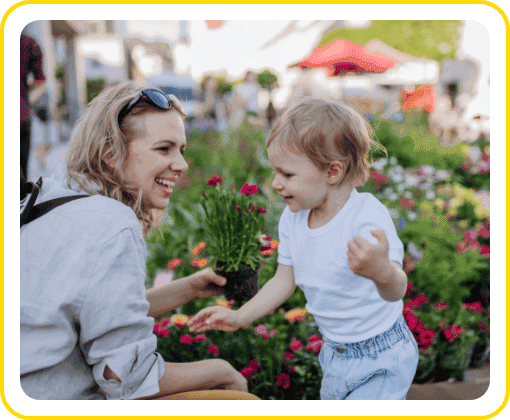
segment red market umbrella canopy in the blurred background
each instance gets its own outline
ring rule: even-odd
[[[382,73],[397,63],[380,52],[370,53],[346,39],[335,39],[294,66],[303,69],[324,67],[329,76],[336,76],[348,71]]]

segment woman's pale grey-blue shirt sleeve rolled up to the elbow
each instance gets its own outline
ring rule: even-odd
[[[155,352],[154,319],[147,315],[145,255],[143,237],[132,229],[100,246],[79,313],[80,348],[107,399],[153,395],[165,373]],[[106,366],[120,382],[104,378]]]

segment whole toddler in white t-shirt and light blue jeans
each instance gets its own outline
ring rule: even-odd
[[[192,332],[235,331],[299,286],[324,339],[321,399],[405,399],[418,364],[402,317],[402,242],[386,207],[356,190],[378,146],[370,132],[354,110],[323,99],[306,98],[282,115],[267,144],[272,187],[288,204],[276,273],[239,310],[210,307],[189,322]]]

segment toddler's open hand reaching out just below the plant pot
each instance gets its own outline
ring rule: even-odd
[[[190,332],[203,332],[208,330],[220,330],[232,332],[242,325],[239,323],[237,311],[223,306],[212,306],[202,309],[188,321]]]

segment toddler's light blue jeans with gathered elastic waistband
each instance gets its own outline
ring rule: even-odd
[[[324,340],[321,400],[405,400],[418,346],[402,316],[386,332],[358,343]]]

